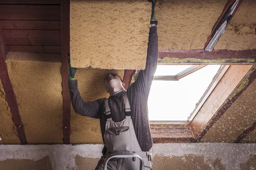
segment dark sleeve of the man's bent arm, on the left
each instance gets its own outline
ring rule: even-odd
[[[100,102],[97,100],[85,103],[79,93],[77,80],[69,81],[69,92],[72,106],[77,114],[99,119]]]

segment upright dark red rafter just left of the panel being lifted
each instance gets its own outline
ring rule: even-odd
[[[61,0],[61,75],[63,98],[63,144],[70,144],[71,100],[68,87],[68,52],[70,50],[69,10],[70,1]]]

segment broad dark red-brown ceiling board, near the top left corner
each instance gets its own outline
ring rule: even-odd
[[[59,5],[0,5],[0,20],[60,20]]]

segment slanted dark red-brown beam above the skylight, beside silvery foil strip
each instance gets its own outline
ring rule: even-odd
[[[211,34],[209,35],[209,37],[207,38],[206,44],[204,44],[204,48],[206,48],[206,46],[207,46],[208,43],[210,42],[212,36],[215,34],[216,30],[218,29],[219,24],[220,24],[221,21],[224,19],[226,13],[227,13],[228,10],[231,8],[231,6],[235,3],[235,1],[236,1],[236,0],[229,0],[229,1],[227,2],[227,4],[225,5],[225,7],[224,7],[224,9],[223,9],[223,11],[222,11],[222,13],[221,13],[220,18],[215,22],[215,24],[214,24],[213,27],[212,27],[212,32],[211,32]],[[237,4],[237,6],[236,6],[236,9],[234,10],[232,16],[235,15],[235,13],[236,13],[238,7],[241,5],[242,1],[243,1],[243,0],[239,0],[238,4]],[[231,18],[231,20],[232,20],[232,18]],[[231,20],[229,20],[229,22],[230,22]],[[229,23],[229,22],[228,22],[228,23]],[[228,23],[227,23],[227,24],[228,24]]]

